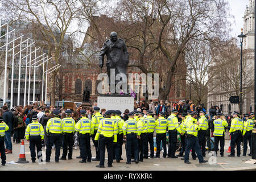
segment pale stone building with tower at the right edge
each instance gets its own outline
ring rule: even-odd
[[[243,16],[243,34],[246,38],[243,39],[243,55],[246,59],[243,59],[246,64],[245,71],[251,72],[246,79],[254,81],[254,22],[255,22],[255,0],[249,0],[249,6],[246,6],[245,15]],[[238,39],[238,38],[236,38]],[[214,80],[213,80],[214,81]],[[209,84],[210,85],[210,84]],[[253,87],[253,88],[252,88]],[[247,89],[248,87],[245,86]],[[252,88],[252,89],[251,89]],[[248,92],[242,102],[242,113],[248,113],[254,110],[254,85],[250,86],[251,91]],[[234,94],[235,95],[235,94]],[[225,96],[221,85],[208,93],[207,108],[210,106],[223,105],[222,111],[224,114],[229,112],[229,98]],[[231,104],[231,111],[239,111],[238,104]]]

